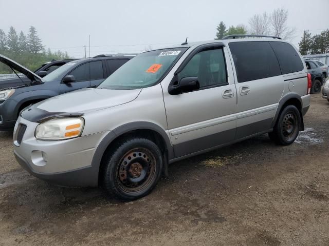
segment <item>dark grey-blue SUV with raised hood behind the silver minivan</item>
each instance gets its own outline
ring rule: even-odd
[[[23,85],[0,90],[0,131],[12,130],[20,111],[25,107],[69,91],[97,87],[133,57],[99,55],[73,60],[41,78],[15,61],[0,55],[0,61],[29,79],[29,82]]]

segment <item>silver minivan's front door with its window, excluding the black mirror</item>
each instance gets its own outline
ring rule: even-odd
[[[175,158],[225,144],[234,140],[236,129],[236,90],[231,68],[226,66],[223,47],[194,52],[177,74],[197,77],[199,90],[170,95],[163,88],[168,129]],[[191,57],[191,58],[190,58]]]

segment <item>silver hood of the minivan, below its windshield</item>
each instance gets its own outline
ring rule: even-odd
[[[42,101],[37,108],[48,112],[86,113],[134,100],[142,89],[107,90],[83,88]]]

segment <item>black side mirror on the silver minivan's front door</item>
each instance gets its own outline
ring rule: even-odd
[[[170,95],[178,95],[183,92],[198,90],[199,88],[200,84],[199,81],[197,81],[197,77],[185,77],[181,78],[179,83],[177,80],[171,83],[168,92]]]

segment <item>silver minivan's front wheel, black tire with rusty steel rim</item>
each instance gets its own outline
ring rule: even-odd
[[[109,195],[123,201],[148,195],[156,186],[162,170],[159,147],[147,138],[131,138],[118,143],[107,153],[103,186]]]

